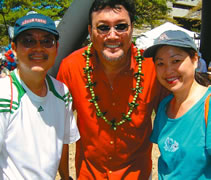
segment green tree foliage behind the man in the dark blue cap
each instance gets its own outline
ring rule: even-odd
[[[2,0],[0,2],[0,45],[8,45],[8,27],[29,11],[36,11],[51,17],[61,19],[72,0]]]

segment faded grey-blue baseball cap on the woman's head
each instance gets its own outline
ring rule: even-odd
[[[187,33],[180,30],[168,30],[155,39],[154,45],[148,47],[143,56],[154,57],[157,49],[163,45],[192,48],[196,52],[198,51],[193,39]]]

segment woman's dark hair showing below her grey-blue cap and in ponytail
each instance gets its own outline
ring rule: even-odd
[[[161,45],[156,49],[155,54],[157,53],[158,49],[160,49],[162,46],[165,45]],[[178,46],[176,46],[178,47]],[[186,48],[186,47],[178,47],[180,49],[182,49],[183,51],[185,51],[186,53],[188,53],[188,55],[190,56],[190,58],[194,58],[194,56],[196,55],[196,51],[192,48]],[[155,61],[155,57],[153,57],[153,61]],[[211,85],[211,80],[209,79],[209,74],[208,73],[201,73],[201,72],[195,72],[195,80],[201,84],[202,86],[209,86]]]

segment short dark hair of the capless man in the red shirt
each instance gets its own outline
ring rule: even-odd
[[[134,0],[95,0],[89,10],[89,25],[92,25],[92,13],[102,10],[105,7],[112,9],[119,9],[119,5],[122,5],[130,16],[131,23],[135,20],[136,8]]]

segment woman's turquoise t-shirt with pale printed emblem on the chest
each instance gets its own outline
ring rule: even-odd
[[[151,141],[158,144],[159,179],[194,180],[211,179],[211,100],[207,127],[205,125],[205,95],[183,116],[168,118],[166,109],[173,95],[159,105]],[[206,142],[209,138],[209,143]]]

